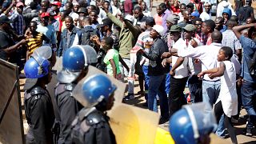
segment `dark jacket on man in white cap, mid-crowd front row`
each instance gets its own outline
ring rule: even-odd
[[[168,52],[166,42],[164,42],[162,38],[154,39],[154,44],[150,47],[150,52],[143,54],[150,60],[148,75],[158,76],[169,72],[170,66],[167,65],[166,67],[163,67],[161,64],[161,56],[164,52]]]

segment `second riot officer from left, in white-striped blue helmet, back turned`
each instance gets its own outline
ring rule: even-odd
[[[88,66],[95,62],[97,62],[97,54],[91,46],[71,46],[63,54],[62,70],[57,74],[59,83],[55,88],[56,107],[58,107],[55,124],[57,127],[59,125],[59,134],[55,134],[54,139],[58,139],[58,143],[70,143],[71,122],[82,109],[73,98],[72,90],[86,76]]]

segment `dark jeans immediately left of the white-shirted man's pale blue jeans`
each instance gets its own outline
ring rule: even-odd
[[[197,75],[191,75],[188,80],[191,102],[202,102],[202,80]]]

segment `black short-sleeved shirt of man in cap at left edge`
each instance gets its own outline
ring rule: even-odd
[[[7,47],[14,46],[14,41],[9,34],[0,30],[0,58],[8,60],[8,54],[3,50]]]

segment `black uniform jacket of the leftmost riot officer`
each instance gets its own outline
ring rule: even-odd
[[[26,138],[26,142],[54,143],[51,132],[54,124],[54,108],[48,91],[34,86],[26,90],[24,99],[26,120],[30,126],[30,138]]]

